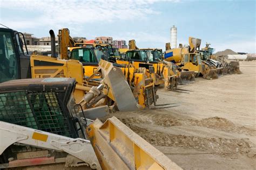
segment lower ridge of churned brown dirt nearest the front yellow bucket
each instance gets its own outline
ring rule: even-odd
[[[156,146],[173,146],[188,149],[196,149],[219,155],[245,154],[248,155],[253,146],[247,138],[226,139],[184,136],[182,134],[167,134],[158,131],[147,130],[136,125],[128,124],[134,132]]]

